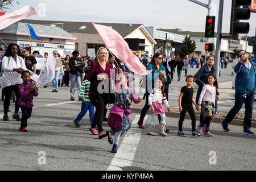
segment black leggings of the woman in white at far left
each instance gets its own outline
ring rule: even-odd
[[[10,106],[10,101],[11,101],[11,96],[13,94],[13,91],[16,96],[14,113],[18,113],[19,112],[19,97],[20,97],[19,85],[16,84],[16,85],[11,85],[11,86],[6,86],[3,89],[4,89],[3,92],[5,93],[5,101],[3,101],[3,113],[6,115],[8,114],[8,109]]]

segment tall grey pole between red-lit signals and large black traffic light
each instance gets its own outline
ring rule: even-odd
[[[215,63],[213,68],[216,70],[216,77],[218,80],[218,73],[220,71],[220,52],[221,52],[221,30],[222,30],[222,16],[223,16],[223,4],[224,0],[220,0],[218,8],[218,27],[217,27],[217,40],[215,51]]]

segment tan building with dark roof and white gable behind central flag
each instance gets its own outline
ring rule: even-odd
[[[25,21],[25,20],[21,20]],[[63,30],[69,32],[77,39],[72,42],[75,43],[75,49],[80,52],[80,55],[89,55],[91,57],[96,56],[98,48],[104,46],[104,43],[90,22],[64,22],[64,21],[49,21],[49,20],[26,20],[28,23],[37,24],[55,24],[63,28]],[[131,23],[96,23],[108,26],[117,31],[123,39],[129,44],[129,47],[134,54],[151,55],[154,53],[154,44],[156,44],[154,38],[147,31],[143,24],[131,24]]]

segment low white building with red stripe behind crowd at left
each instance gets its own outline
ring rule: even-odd
[[[44,52],[52,53],[53,50],[59,51],[61,57],[71,55],[75,50],[76,37],[64,31],[60,27],[46,26],[40,24],[30,24],[34,28],[36,35],[40,40],[31,38],[32,47],[35,50],[40,49],[41,55]],[[0,30],[0,37],[8,45],[10,43],[16,43],[20,47],[30,47],[31,42],[27,32],[26,23],[13,23],[10,26]],[[6,49],[5,44],[1,44],[3,49]]]

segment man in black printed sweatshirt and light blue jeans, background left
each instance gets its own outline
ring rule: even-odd
[[[81,101],[80,88],[82,82],[82,73],[84,72],[84,61],[81,61],[79,51],[72,52],[73,57],[69,60],[69,78],[70,78],[70,100],[75,101],[75,84],[77,84],[77,94]]]

